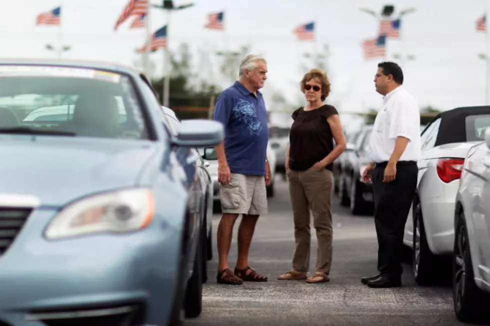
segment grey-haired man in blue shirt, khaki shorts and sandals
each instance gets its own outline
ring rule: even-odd
[[[222,216],[217,230],[217,283],[266,282],[267,277],[248,266],[248,250],[258,216],[267,213],[265,186],[271,181],[267,161],[267,111],[262,94],[267,73],[265,60],[247,55],[240,63],[239,80],[225,89],[214,108],[214,120],[224,125],[224,142],[215,147],[221,184]],[[234,273],[228,266],[233,226],[238,228],[238,259]]]

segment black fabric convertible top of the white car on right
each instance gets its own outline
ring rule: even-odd
[[[490,115],[490,106],[465,106],[440,112],[429,123],[430,125],[436,119],[441,118],[434,146],[468,141],[466,139],[466,117],[487,114]]]

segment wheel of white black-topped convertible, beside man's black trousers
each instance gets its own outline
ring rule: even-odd
[[[416,203],[413,210],[412,254],[412,268],[415,282],[421,286],[432,285],[434,277],[437,274],[434,264],[436,257],[430,252],[427,244],[420,202]]]

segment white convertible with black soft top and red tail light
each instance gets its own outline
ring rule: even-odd
[[[433,285],[449,270],[453,253],[454,203],[464,158],[490,126],[490,107],[459,107],[439,113],[421,134],[421,157],[413,204],[403,243],[412,249],[413,274],[419,285]],[[449,218],[450,217],[450,218]]]

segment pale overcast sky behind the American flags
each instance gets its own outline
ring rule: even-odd
[[[152,0],[153,3],[161,3]],[[129,29],[132,18],[114,32],[114,23],[127,0],[15,0],[3,1],[0,19],[0,57],[55,57],[45,44],[70,45],[63,58],[114,61],[132,65],[139,58],[134,49],[144,42],[145,30]],[[176,4],[189,0],[174,0]],[[381,95],[374,90],[373,77],[382,58],[365,60],[361,42],[377,32],[376,18],[361,12],[379,12],[384,4],[395,6],[394,16],[402,9],[415,12],[403,17],[401,39],[388,39],[386,59],[401,64],[404,87],[420,107],[431,105],[440,110],[457,106],[485,104],[485,33],[477,32],[476,19],[490,0],[195,0],[193,7],[174,12],[169,25],[171,50],[187,42],[194,53],[196,72],[222,87],[217,72],[219,58],[213,52],[238,50],[250,46],[250,53],[267,60],[268,79],[262,92],[270,110],[280,109],[271,100],[278,91],[289,101],[301,98],[299,81],[312,63],[302,56],[328,45],[326,59],[331,94],[326,102],[341,112],[364,112],[378,108]],[[41,11],[62,6],[61,27],[36,26]],[[207,14],[224,10],[225,30],[204,28]],[[292,33],[301,23],[316,22],[316,40],[298,41]],[[152,31],[167,23],[159,9],[150,12]],[[490,44],[490,42],[488,42]],[[210,54],[209,60],[199,53]],[[400,62],[393,54],[414,60]],[[156,64],[154,75],[161,75],[163,52],[151,54]],[[303,66],[303,67],[301,67]]]

